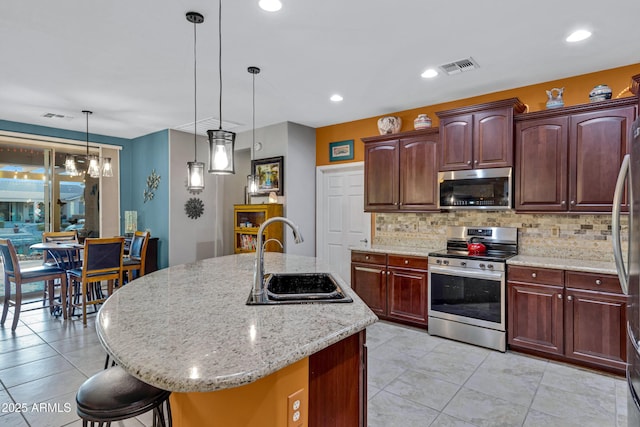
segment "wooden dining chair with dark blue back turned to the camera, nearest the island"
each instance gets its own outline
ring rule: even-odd
[[[73,315],[75,308],[81,305],[82,323],[85,326],[87,305],[103,303],[113,293],[114,282],[122,283],[123,253],[124,237],[87,238],[84,241],[82,267],[67,271],[70,282],[69,315]],[[107,282],[107,296],[103,294],[102,281]]]

